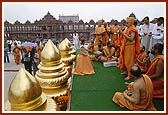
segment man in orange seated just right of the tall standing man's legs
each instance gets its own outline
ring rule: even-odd
[[[141,48],[140,54],[136,57],[136,64],[140,67],[142,73],[146,73],[150,66],[149,52],[145,52],[145,46]]]

